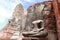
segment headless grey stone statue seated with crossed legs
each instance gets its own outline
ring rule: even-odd
[[[25,37],[46,37],[48,35],[47,30],[44,29],[44,21],[36,20],[33,21],[34,29],[29,32],[23,32],[23,36]]]

